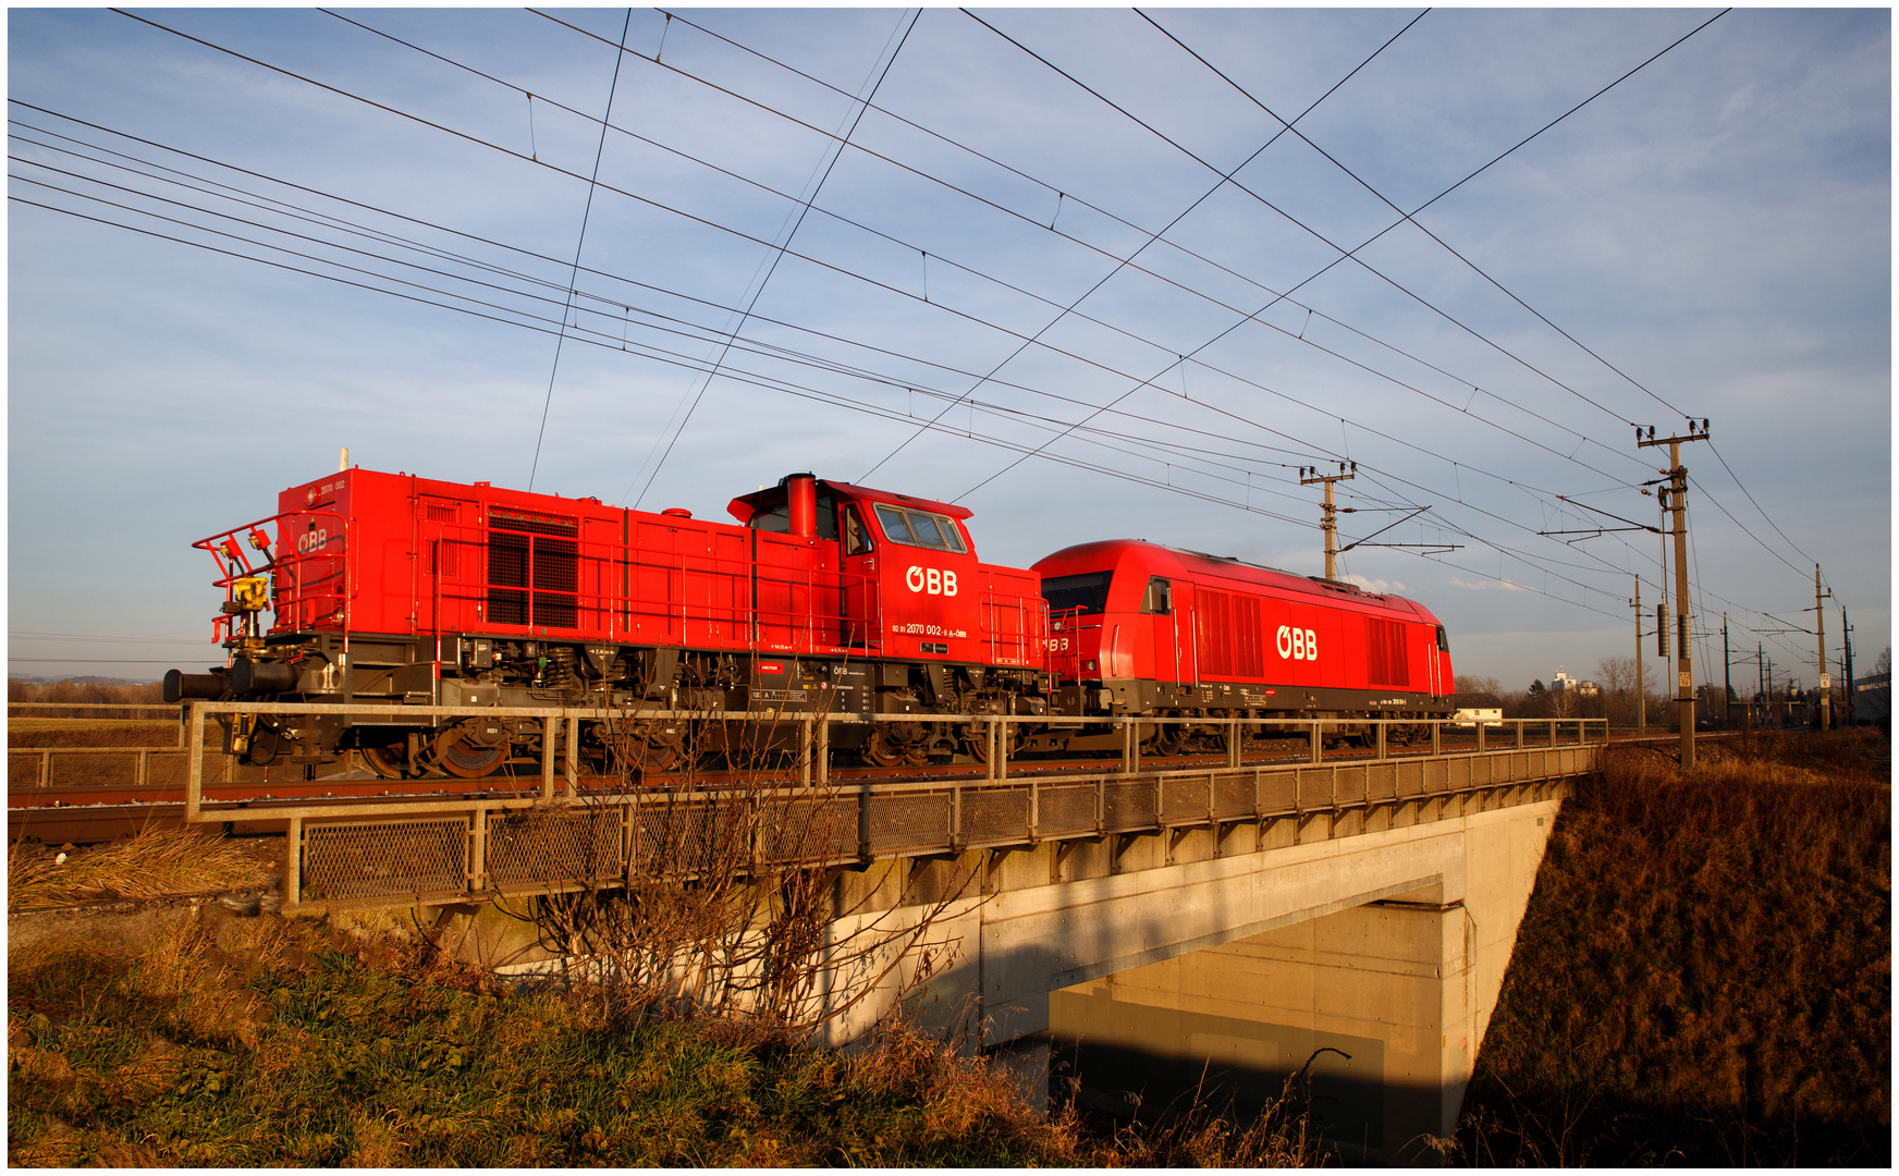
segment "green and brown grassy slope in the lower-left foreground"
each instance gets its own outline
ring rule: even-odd
[[[629,1024],[414,940],[273,918],[8,959],[15,1167],[1130,1167],[1301,1155],[1212,1115],[1094,1136],[904,1024],[851,1054]]]

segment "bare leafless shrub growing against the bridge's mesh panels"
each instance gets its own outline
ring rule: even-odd
[[[583,885],[522,910],[568,977],[615,1015],[710,1015],[811,1034],[927,982],[950,959],[938,921],[972,872],[959,870],[929,902],[898,897],[879,908],[870,887],[843,899],[839,870],[858,855],[855,794],[807,773],[799,752],[769,747],[773,724],[801,714],[754,718],[687,724],[684,769],[657,794],[642,768],[649,750],[610,737],[619,796],[543,815],[617,819],[629,794],[657,800],[632,809],[629,863],[608,859],[606,838],[589,842]],[[714,752],[724,756],[716,775],[706,768]]]

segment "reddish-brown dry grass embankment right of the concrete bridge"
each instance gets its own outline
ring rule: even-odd
[[[1888,1163],[1890,923],[1876,731],[1764,735],[1688,773],[1616,752],[1551,834],[1466,1155]]]

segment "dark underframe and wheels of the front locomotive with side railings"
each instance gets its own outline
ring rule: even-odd
[[[646,705],[767,716],[748,724],[629,720],[621,730],[610,722],[583,722],[581,754],[602,771],[668,769],[687,756],[737,762],[760,752],[792,752],[799,749],[803,724],[788,720],[807,714],[915,714],[915,722],[839,720],[832,726],[834,749],[858,752],[874,764],[923,764],[957,752],[980,760],[987,750],[984,730],[929,716],[1048,712],[1048,678],[1031,669],[465,633],[351,635],[348,652],[340,633],[281,633],[264,648],[241,654],[230,669],[213,671],[211,678],[216,688],[205,688],[205,695],[249,701],[602,711]],[[499,718],[406,722],[325,714],[226,724],[224,733],[224,750],[251,764],[332,764],[346,750],[359,750],[374,771],[389,777],[498,775],[509,764],[537,764],[541,743],[534,722]]]

